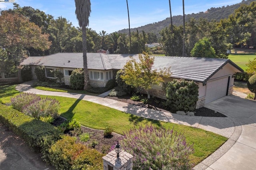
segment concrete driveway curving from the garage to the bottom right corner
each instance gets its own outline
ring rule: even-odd
[[[255,170],[256,101],[230,95],[208,103],[205,107],[223,113],[242,127],[238,138],[229,139],[229,142],[234,142],[230,150],[206,170]]]

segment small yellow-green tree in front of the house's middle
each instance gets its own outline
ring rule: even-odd
[[[150,99],[151,85],[159,85],[162,83],[163,77],[169,75],[169,69],[156,71],[153,69],[154,57],[150,57],[148,53],[139,54],[139,61],[132,58],[124,66],[125,74],[120,77],[126,84],[136,88],[142,88],[146,91],[148,99]]]

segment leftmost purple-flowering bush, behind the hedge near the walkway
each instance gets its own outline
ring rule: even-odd
[[[14,109],[22,111],[25,105],[29,105],[32,101],[40,100],[41,97],[34,93],[20,93],[11,98],[11,103]]]

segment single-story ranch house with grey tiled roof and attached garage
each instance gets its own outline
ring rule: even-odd
[[[65,84],[69,84],[72,71],[83,68],[82,53],[56,53],[43,57],[28,57],[21,64],[31,65],[32,71],[36,65],[45,66],[46,77],[53,78],[52,71],[59,69],[64,73]],[[106,82],[115,77],[116,71],[122,69],[126,62],[133,57],[138,59],[138,54],[105,54],[87,53],[90,84],[93,87],[104,87]],[[170,67],[170,77],[193,80],[199,87],[197,108],[204,106],[220,97],[230,95],[233,91],[234,73],[243,70],[230,59],[195,58],[195,57],[168,57],[155,56],[154,69]],[[35,74],[33,72],[33,77]],[[154,85],[151,95],[165,98],[161,86]]]

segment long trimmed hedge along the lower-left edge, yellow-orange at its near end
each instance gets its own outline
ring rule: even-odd
[[[0,104],[0,122],[21,136],[29,146],[42,153],[42,158],[56,169],[98,170],[103,166],[104,154],[64,136],[49,123]]]

